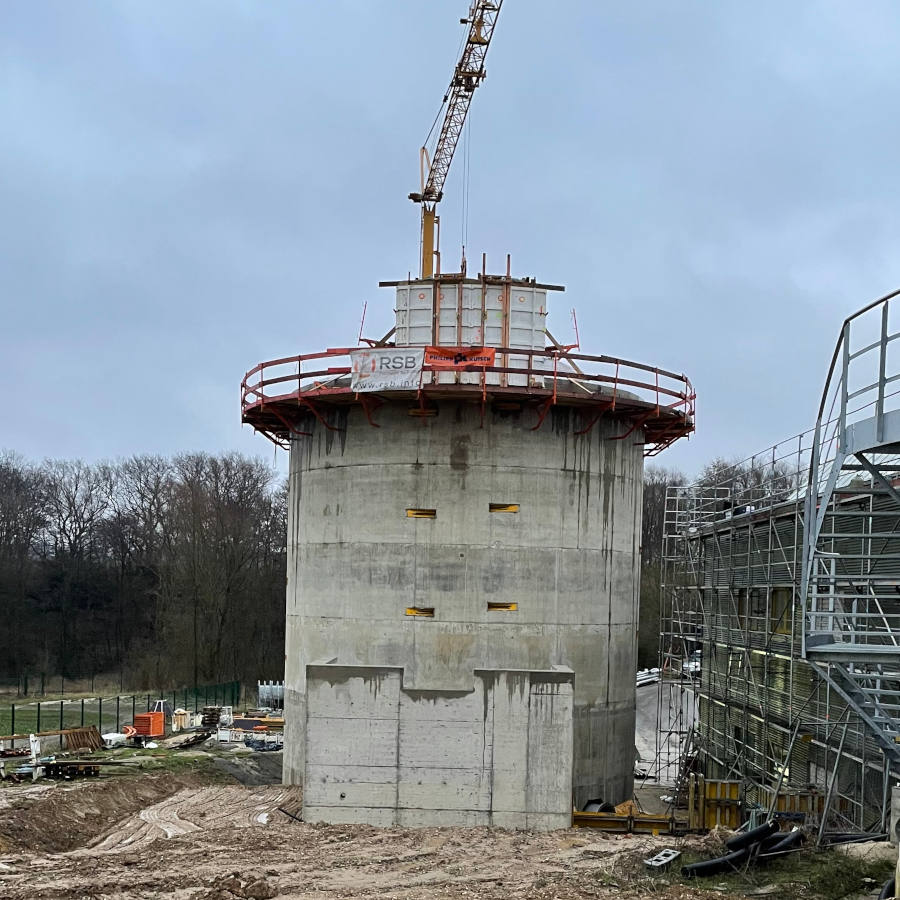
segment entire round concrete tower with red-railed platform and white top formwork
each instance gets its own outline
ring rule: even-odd
[[[325,821],[565,825],[631,796],[643,458],[693,392],[547,346],[561,288],[391,286],[392,343],[243,384],[290,447],[285,781]]]

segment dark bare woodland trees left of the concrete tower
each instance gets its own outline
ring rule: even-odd
[[[236,453],[0,454],[0,677],[281,678],[286,485]]]

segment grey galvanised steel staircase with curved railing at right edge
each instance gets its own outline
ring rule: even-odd
[[[865,307],[841,330],[805,487],[801,597],[803,655],[900,767],[896,297]]]

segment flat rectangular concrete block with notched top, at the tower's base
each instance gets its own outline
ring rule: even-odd
[[[398,668],[306,672],[304,821],[570,826],[570,670],[479,671],[468,692],[409,690]]]

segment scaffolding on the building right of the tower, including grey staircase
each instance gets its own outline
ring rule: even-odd
[[[844,322],[814,428],[666,497],[660,768],[820,834],[885,832],[900,775],[895,296]]]

